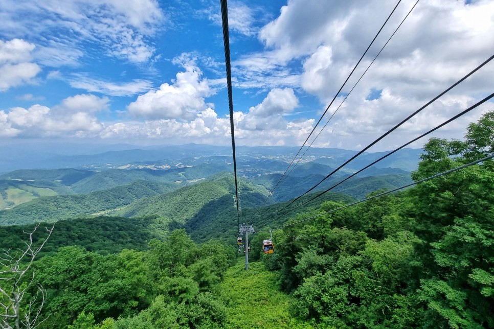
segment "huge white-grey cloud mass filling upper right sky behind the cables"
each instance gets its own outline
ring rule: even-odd
[[[343,95],[350,91],[413,3],[400,4],[348,81]],[[291,0],[280,16],[260,31],[259,37],[267,50],[264,57],[259,53],[245,56],[242,68],[254,67],[262,77],[264,68],[270,75],[271,69],[302,62],[299,86],[319,98],[322,113],[394,5],[389,1]],[[377,137],[492,55],[492,31],[494,3],[491,1],[419,3],[315,145],[331,143],[355,149],[363,144],[362,140]],[[494,63],[489,63],[404,125],[386,143],[404,143],[473,105],[482,95],[492,92],[489,89],[494,82],[492,77]],[[367,100],[371,90],[382,90],[380,97]],[[342,100],[343,97],[336,100],[329,114]],[[488,104],[482,106],[439,134],[461,138],[467,123],[477,120],[487,108]]]

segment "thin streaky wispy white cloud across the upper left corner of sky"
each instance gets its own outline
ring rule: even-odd
[[[36,40],[36,58],[53,67],[77,64],[80,45],[87,41],[101,45],[108,56],[146,62],[155,53],[149,37],[165,20],[155,0],[4,0],[0,12],[0,32]]]

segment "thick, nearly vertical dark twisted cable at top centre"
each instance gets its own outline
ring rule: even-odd
[[[237,224],[240,224],[240,212],[238,203],[237,160],[235,157],[235,132],[233,127],[233,93],[232,72],[230,65],[230,36],[228,32],[228,6],[227,0],[220,0],[221,22],[223,26],[224,64],[227,71],[228,106],[230,109],[230,130],[232,131],[233,172],[235,176],[235,201],[237,205]]]

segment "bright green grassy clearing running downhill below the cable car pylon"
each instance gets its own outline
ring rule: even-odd
[[[245,261],[228,269],[221,283],[227,301],[227,328],[313,328],[288,313],[291,297],[278,290],[279,274],[265,269],[261,262]]]

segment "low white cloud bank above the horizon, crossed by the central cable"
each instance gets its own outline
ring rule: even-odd
[[[284,114],[299,106],[293,89],[273,89],[264,100],[247,112],[234,112],[235,138],[239,145],[300,144],[311,130],[313,120],[288,121]],[[230,142],[230,119],[219,117],[212,108],[205,108],[190,120],[168,118],[147,120],[143,123],[118,122],[105,126],[104,138],[146,138],[167,143],[210,143],[224,145]]]

